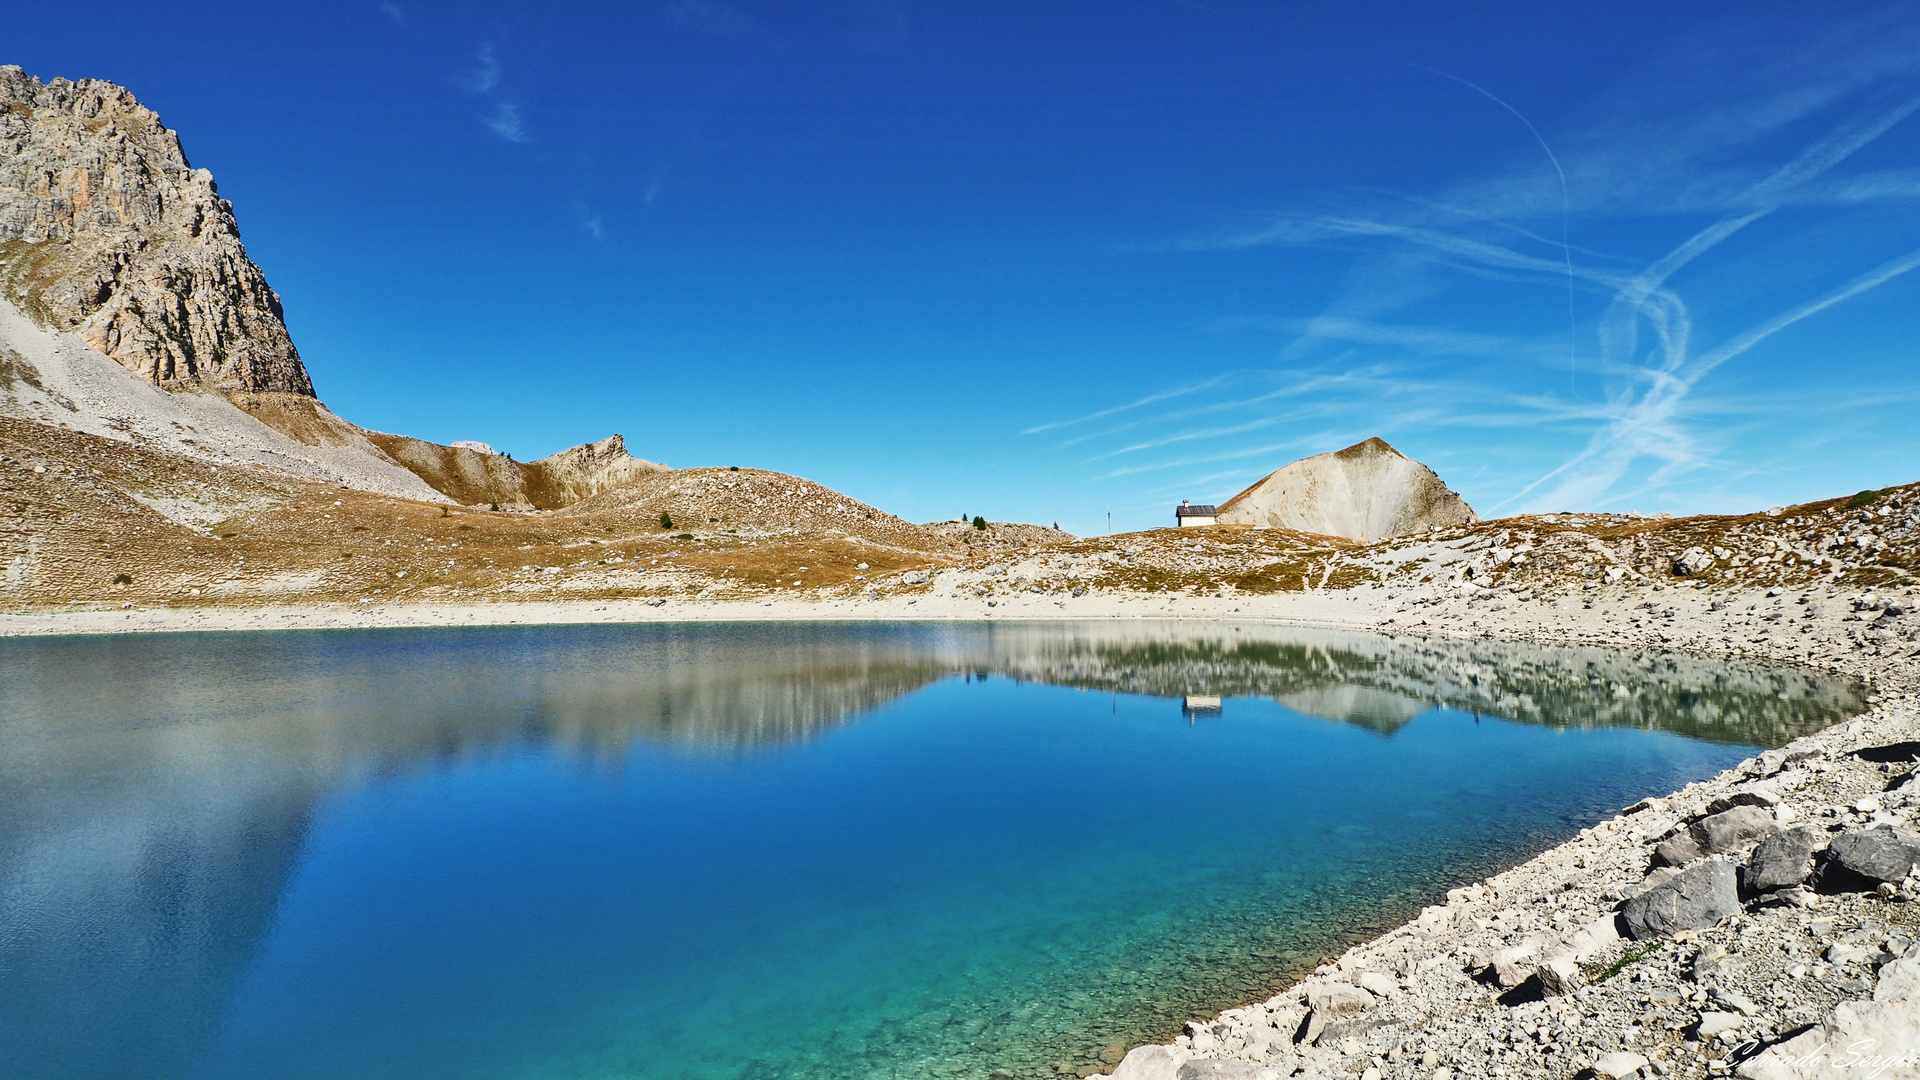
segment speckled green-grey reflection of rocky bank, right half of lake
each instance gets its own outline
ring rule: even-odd
[[[1812,671],[1647,650],[1190,623],[996,626],[991,638],[977,671],[1156,698],[1271,698],[1380,734],[1446,705],[1557,728],[1780,746],[1862,701],[1857,684]]]

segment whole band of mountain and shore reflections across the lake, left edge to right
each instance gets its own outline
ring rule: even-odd
[[[1759,663],[1187,623],[10,640],[0,671],[8,1076],[182,1074],[323,799],[524,742],[609,771],[636,746],[774,751],[947,676],[1167,698],[1169,723],[1258,696],[1386,738],[1448,705],[1778,746],[1860,705]]]

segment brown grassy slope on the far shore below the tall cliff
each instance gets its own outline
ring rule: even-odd
[[[0,601],[13,607],[816,596],[966,550],[758,469],[662,473],[566,511],[490,513],[27,421],[0,421],[0,567],[13,567]],[[196,530],[140,498],[225,513]],[[115,584],[121,575],[131,580]]]

